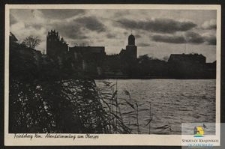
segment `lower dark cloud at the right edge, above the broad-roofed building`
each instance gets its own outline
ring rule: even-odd
[[[191,43],[191,44],[208,44],[216,45],[215,36],[202,36],[195,32],[187,32],[183,36],[181,35],[153,35],[151,37],[153,41],[165,42],[173,44]]]

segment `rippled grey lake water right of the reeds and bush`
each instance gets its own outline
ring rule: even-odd
[[[123,102],[122,99],[137,101],[139,133],[181,134],[182,123],[215,122],[214,79],[111,79],[96,80],[96,84],[101,88],[105,81],[117,84],[119,102]],[[122,113],[132,110],[128,105],[121,107]],[[151,117],[152,121],[148,125]],[[138,132],[137,115],[123,115],[123,120],[132,128],[132,133]]]

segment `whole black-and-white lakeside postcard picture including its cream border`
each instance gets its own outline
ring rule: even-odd
[[[12,138],[173,137],[182,123],[219,122],[219,6],[7,10],[5,132]]]

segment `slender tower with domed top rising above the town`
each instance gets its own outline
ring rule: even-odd
[[[137,59],[137,46],[135,45],[135,37],[132,34],[128,37],[128,45],[126,46],[126,53],[129,59],[131,60]]]

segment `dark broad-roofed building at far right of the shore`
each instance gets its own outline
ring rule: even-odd
[[[216,65],[202,54],[171,54],[167,68],[172,78],[215,78]]]

